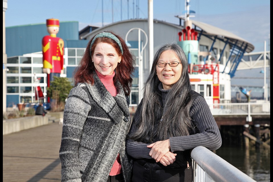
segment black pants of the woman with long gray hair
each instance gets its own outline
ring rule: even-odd
[[[142,166],[134,162],[132,182],[192,182],[193,168],[159,169],[156,163]]]

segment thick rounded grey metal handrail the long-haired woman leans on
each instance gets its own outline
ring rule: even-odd
[[[203,146],[191,152],[193,159],[193,182],[252,182],[255,181],[220,156]]]

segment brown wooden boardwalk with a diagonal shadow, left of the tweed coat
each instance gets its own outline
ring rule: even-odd
[[[3,135],[3,182],[61,181],[61,133],[58,122]]]

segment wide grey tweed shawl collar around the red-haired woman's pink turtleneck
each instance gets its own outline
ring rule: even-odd
[[[104,84],[100,81],[100,78],[94,72],[94,85],[85,83],[91,97],[108,115],[111,117],[115,124],[123,120],[124,115],[130,116],[129,108],[126,102],[123,88],[119,81],[116,81],[115,86],[119,93],[113,97],[107,91]]]

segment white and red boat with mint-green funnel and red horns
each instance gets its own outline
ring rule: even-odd
[[[178,32],[179,41],[177,44],[184,50],[189,63],[189,77],[192,85],[192,89],[199,92],[206,100],[209,106],[220,103],[220,84],[224,87],[231,87],[230,75],[228,73],[220,73],[220,61],[216,61],[214,57],[211,57],[210,52],[200,52],[198,47],[198,34],[196,28],[193,28],[193,23],[189,19],[190,13],[195,11],[189,10],[189,0],[185,0],[185,16],[184,28],[181,32]],[[183,38],[182,38],[183,36]],[[203,56],[203,61],[200,61],[200,57]],[[210,59],[208,59],[210,56]],[[220,83],[219,76],[228,78]],[[229,82],[227,81],[229,80]],[[231,98],[231,90],[229,93]],[[227,101],[227,100],[226,100]],[[230,100],[231,102],[231,100]]]

